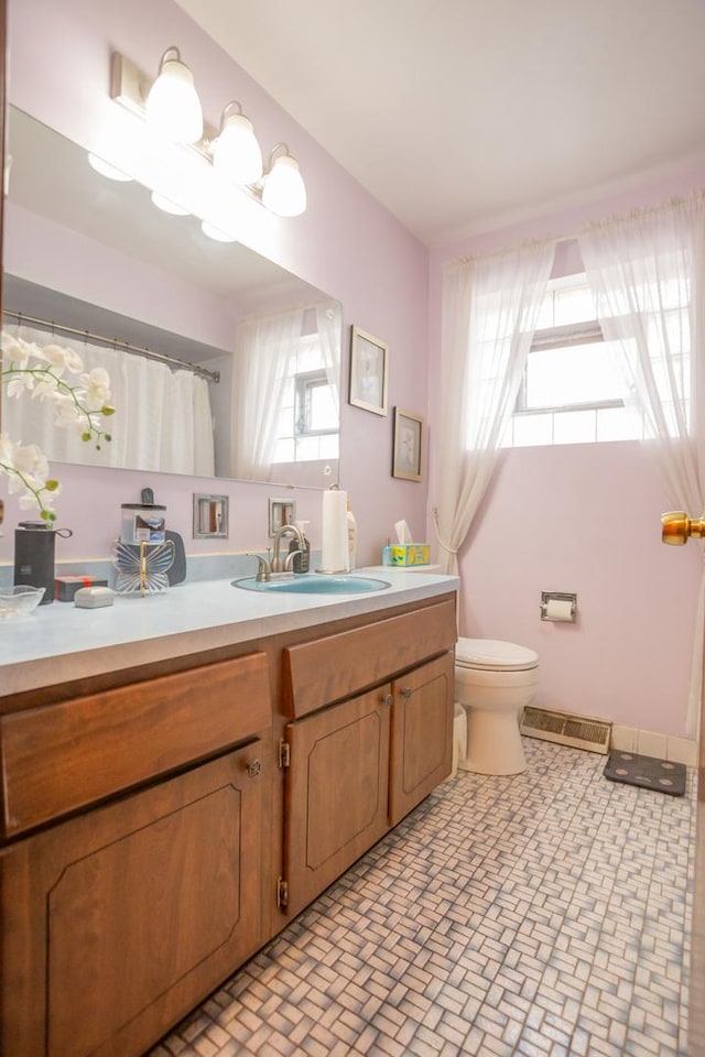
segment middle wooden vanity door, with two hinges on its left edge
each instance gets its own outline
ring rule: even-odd
[[[389,684],[286,727],[285,874],[299,913],[387,830]]]

